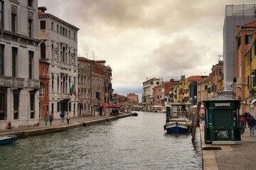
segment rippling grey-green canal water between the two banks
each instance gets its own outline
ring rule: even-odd
[[[165,114],[138,112],[108,123],[0,147],[0,169],[203,169],[199,130],[164,131]]]

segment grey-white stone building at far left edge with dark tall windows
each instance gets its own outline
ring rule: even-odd
[[[38,1],[0,0],[0,129],[38,125]]]

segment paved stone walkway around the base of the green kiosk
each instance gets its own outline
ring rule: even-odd
[[[201,137],[202,147],[206,147],[202,129]],[[205,170],[256,169],[256,130],[255,136],[250,137],[250,129],[246,128],[241,145],[210,145],[210,147],[221,147],[221,150],[203,150]]]

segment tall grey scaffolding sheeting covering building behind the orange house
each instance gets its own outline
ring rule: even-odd
[[[236,77],[236,28],[255,20],[255,4],[226,5],[223,26],[223,87],[230,98],[236,95],[233,78]]]

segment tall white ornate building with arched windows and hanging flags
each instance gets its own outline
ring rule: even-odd
[[[55,118],[60,113],[78,116],[78,98],[70,95],[70,89],[78,93],[78,30],[50,13],[46,7],[38,8],[41,59],[49,67],[49,111]]]

